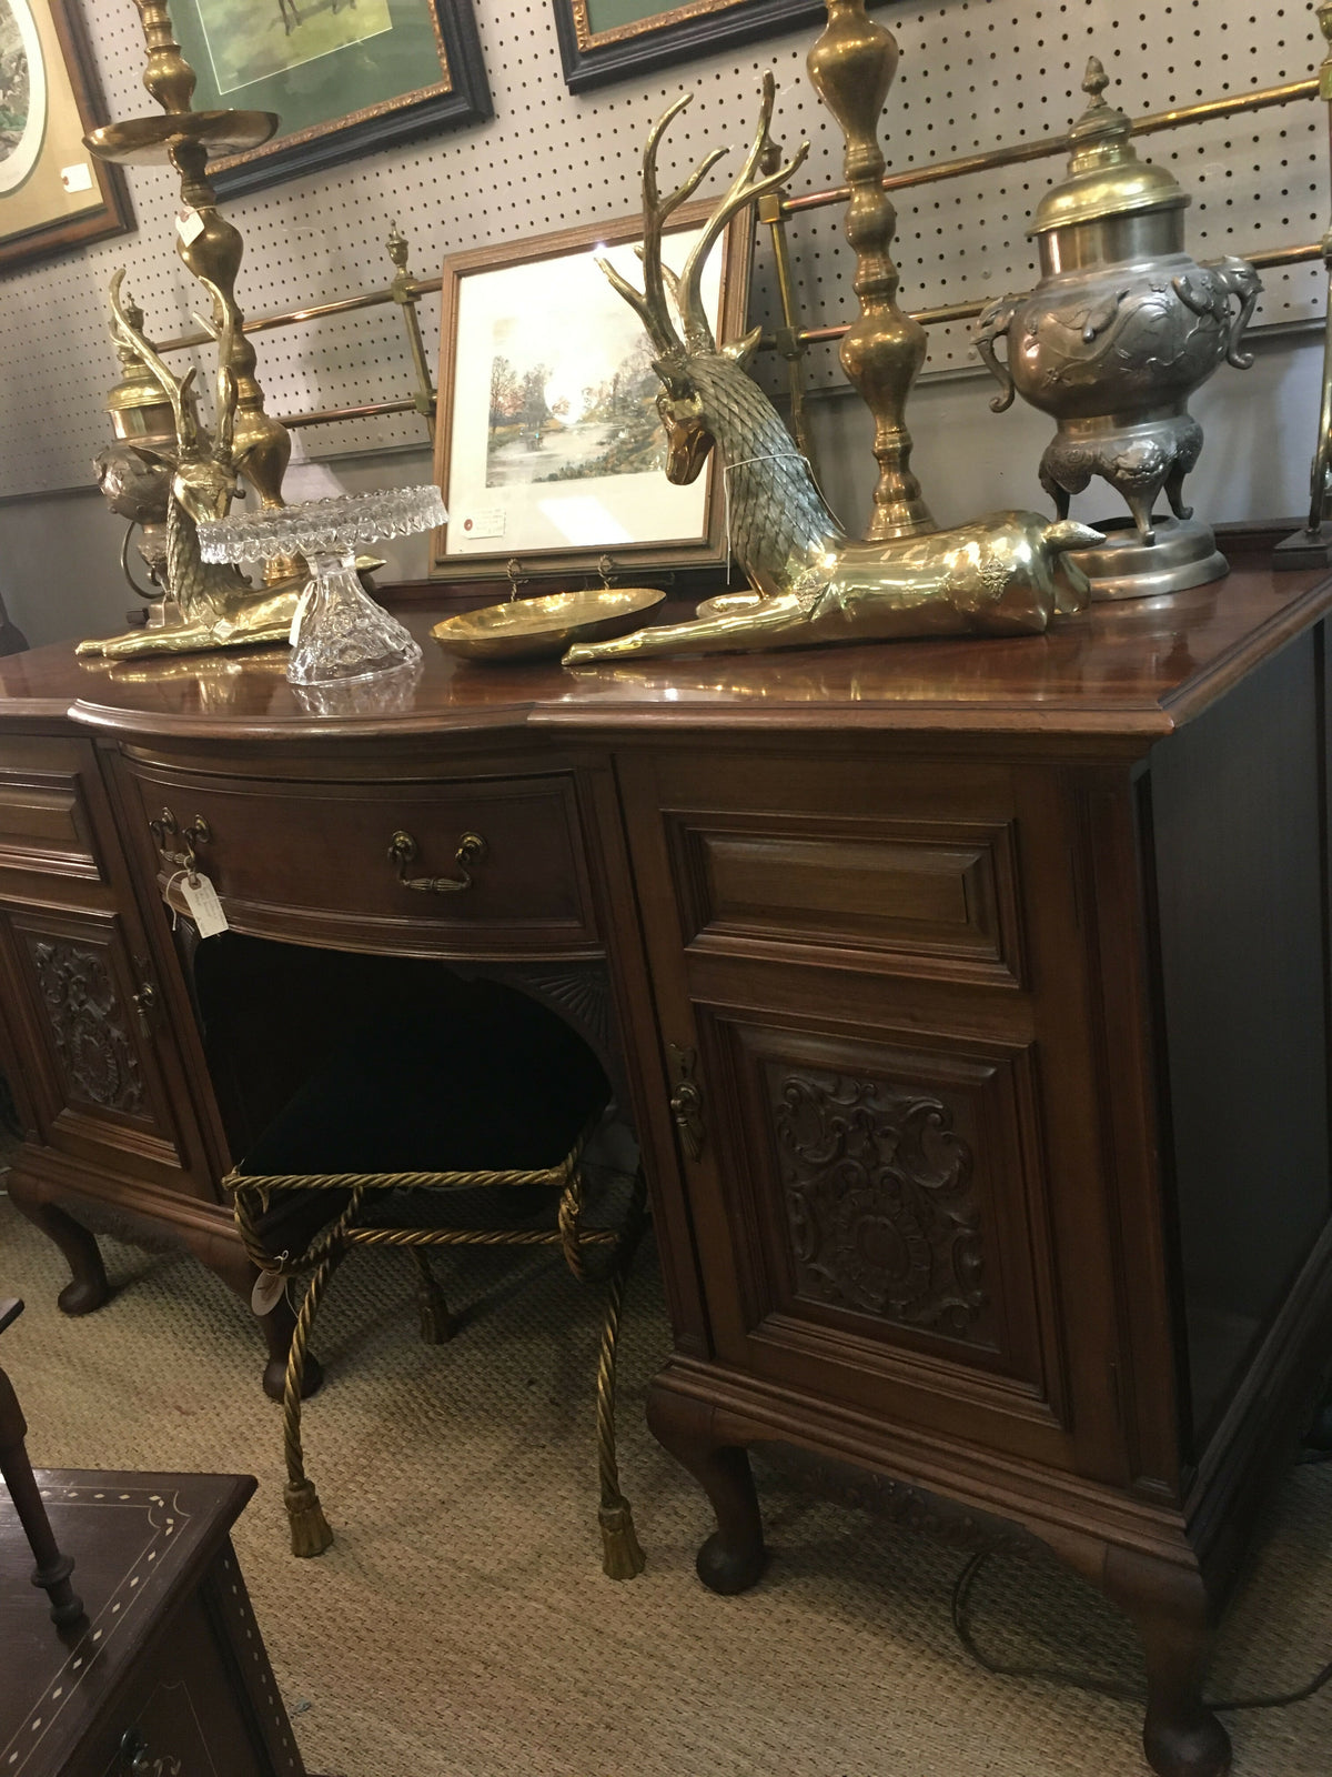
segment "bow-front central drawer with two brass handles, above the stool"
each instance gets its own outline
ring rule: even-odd
[[[313,789],[151,773],[139,796],[160,883],[194,846],[238,929],[444,952],[595,942],[568,775]]]

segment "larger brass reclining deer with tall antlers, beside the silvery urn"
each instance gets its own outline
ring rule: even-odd
[[[657,412],[666,428],[666,474],[693,482],[709,451],[721,453],[730,546],[755,597],[742,608],[689,624],[639,629],[614,641],[574,647],[565,665],[632,656],[797,649],[822,641],[886,641],[908,636],[1014,636],[1041,633],[1055,615],[1085,608],[1089,583],[1064,560],[1101,542],[1069,521],[1035,512],[996,512],[950,531],[900,542],[860,542],[842,530],[815,485],[808,460],[781,416],[748,375],[755,329],[718,348],[702,299],[703,263],[721,231],[764,192],[776,190],[808,155],[757,178],[773,121],[774,82],[764,98],[753,147],[718,204],[680,277],[662,267],[670,215],[725,155],[712,149],[668,197],[657,188],[657,147],[693,94],[682,94],[648,131],[643,151],[643,290],[613,267],[602,270],[643,320],[662,382]],[[671,315],[678,311],[680,329]],[[728,606],[733,601],[728,601]]]

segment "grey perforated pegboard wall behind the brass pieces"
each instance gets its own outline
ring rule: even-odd
[[[78,4],[78,0],[76,0]],[[82,0],[110,117],[151,110],[140,85],[142,32],[131,0]],[[384,240],[394,220],[410,240],[416,275],[446,252],[504,242],[638,210],[643,135],[682,89],[694,103],[670,131],[664,169],[684,169],[707,147],[741,151],[753,128],[760,75],[778,80],[774,133],[789,147],[810,137],[797,190],[840,183],[842,139],[805,73],[813,37],[776,37],[742,55],[686,62],[643,82],[586,98],[561,76],[549,0],[474,0],[496,116],[488,124],[426,137],[229,206],[245,235],[238,295],[249,315],[387,284]],[[883,142],[893,169],[950,160],[1005,142],[1060,135],[1082,112],[1089,53],[1105,60],[1110,100],[1133,116],[1311,75],[1323,55],[1309,0],[932,0],[888,5],[902,64],[888,100]],[[1138,144],[1167,162],[1193,195],[1188,245],[1199,258],[1316,242],[1327,227],[1327,114],[1318,101],[1154,135]],[[726,167],[712,187],[725,188]],[[1062,160],[927,185],[897,195],[895,256],[911,309],[1027,290],[1035,258],[1030,211],[1062,176]],[[201,291],[174,252],[176,178],[131,169],[137,233],[82,249],[0,281],[0,496],[87,485],[107,442],[105,394],[117,364],[107,334],[105,291],[115,267],[149,332],[194,331]],[[790,224],[801,320],[854,313],[852,254],[840,206]],[[755,259],[751,318],[778,320],[767,231]],[[1311,322],[1323,313],[1321,265],[1266,274],[1257,325]],[[421,304],[432,347],[437,299]],[[259,380],[275,414],[410,394],[410,363],[394,307],[259,334]],[[181,355],[178,363],[188,359]],[[966,327],[931,329],[927,371],[975,363]],[[767,361],[767,373],[778,366]],[[842,384],[831,348],[810,355],[810,382]],[[208,386],[208,366],[201,384]],[[311,455],[423,446],[414,414],[304,434]]]

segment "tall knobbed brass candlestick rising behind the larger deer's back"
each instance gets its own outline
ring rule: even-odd
[[[810,50],[810,80],[845,137],[851,187],[845,236],[856,252],[860,320],[842,339],[847,380],[874,414],[879,483],[867,542],[938,530],[911,474],[906,400],[925,363],[925,329],[897,306],[899,275],[888,249],[897,211],[883,188],[879,116],[897,73],[897,39],[865,14],[865,0],[828,0],[828,27]]]

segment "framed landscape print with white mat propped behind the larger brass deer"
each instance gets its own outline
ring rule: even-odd
[[[671,219],[677,274],[710,204]],[[435,480],[449,522],[430,570],[449,579],[616,574],[725,562],[716,451],[687,487],[666,480],[661,380],[638,315],[597,265],[641,281],[641,217],[444,261]],[[744,332],[753,222],[741,213],[703,268],[718,341]]]

